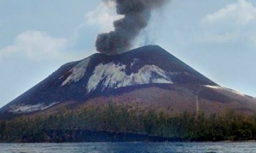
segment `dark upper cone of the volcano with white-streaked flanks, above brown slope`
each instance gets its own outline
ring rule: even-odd
[[[67,63],[0,112],[2,117],[42,112],[67,101],[85,102],[104,94],[125,95],[152,86],[190,94],[195,99],[255,102],[253,97],[218,86],[159,46],[144,46],[115,56],[93,54]]]

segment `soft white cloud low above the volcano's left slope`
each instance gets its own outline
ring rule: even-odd
[[[25,31],[15,37],[14,43],[0,49],[0,59],[26,57],[31,60],[56,58],[67,45],[67,39],[56,38],[46,32]]]

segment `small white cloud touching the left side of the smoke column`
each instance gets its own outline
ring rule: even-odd
[[[85,14],[86,23],[100,26],[102,32],[112,31],[114,20],[122,17],[116,14],[113,1],[100,2],[96,9]]]

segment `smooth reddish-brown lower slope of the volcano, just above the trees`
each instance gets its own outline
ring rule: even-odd
[[[118,94],[113,94],[115,91]],[[163,110],[174,115],[184,111],[189,113],[200,111],[207,115],[226,111],[253,114],[256,110],[256,99],[246,95],[234,94],[228,90],[191,84],[151,84],[150,86],[142,85],[137,88],[126,87],[112,90],[101,95],[95,95],[86,101],[72,103],[68,101],[39,114],[56,113],[63,107],[76,109],[86,105],[101,106],[109,102],[133,107],[138,106],[148,110]]]

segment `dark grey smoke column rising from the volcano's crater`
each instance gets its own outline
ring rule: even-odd
[[[118,54],[130,49],[132,41],[147,27],[151,10],[170,0],[103,0],[115,1],[117,14],[124,15],[114,22],[114,31],[101,33],[96,49],[104,54]]]

